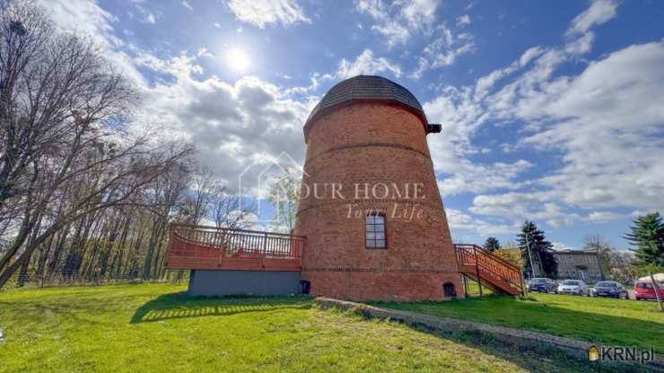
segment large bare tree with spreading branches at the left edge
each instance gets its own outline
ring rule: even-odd
[[[29,3],[0,6],[0,287],[71,227],[67,271],[78,273],[101,212],[144,206],[153,180],[191,154],[127,132],[135,99],[89,39],[55,32]]]

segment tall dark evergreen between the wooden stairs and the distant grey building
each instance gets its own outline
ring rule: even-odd
[[[544,232],[538,230],[534,222],[525,221],[517,237],[523,257],[523,271],[531,275],[555,278],[558,275],[558,262],[554,256],[554,246],[546,240]],[[530,267],[531,257],[535,272]]]

